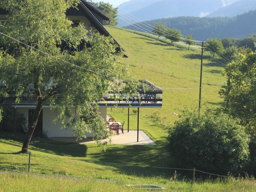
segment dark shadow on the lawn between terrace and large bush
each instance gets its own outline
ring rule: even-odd
[[[98,160],[93,163],[113,166],[113,171],[119,174],[137,176],[170,176],[168,169],[156,168],[165,167],[168,164],[169,153],[163,146],[109,146],[106,152],[92,153],[90,156],[92,159]],[[81,159],[81,161],[86,160]]]

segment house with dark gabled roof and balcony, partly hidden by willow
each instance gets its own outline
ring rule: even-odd
[[[0,10],[0,21],[6,22],[6,14],[5,10]],[[83,24],[87,30],[97,30],[101,35],[110,36],[110,33],[103,27],[102,21],[108,21],[104,14],[101,11],[90,5],[88,2],[84,0],[80,0],[80,4],[78,6],[78,10],[71,8],[66,12],[66,16],[73,22],[73,25],[77,25],[79,23]],[[115,40],[116,44],[120,46],[120,44]],[[71,47],[68,45],[64,45],[63,50],[71,51]],[[105,121],[107,121],[107,108],[111,107],[122,107],[128,108],[130,107],[137,108],[148,108],[148,107],[161,107],[162,106],[162,93],[163,91],[150,83],[147,80],[141,80],[142,83],[145,83],[148,86],[147,90],[143,88],[138,90],[140,95],[134,95],[133,97],[125,98],[122,95],[122,90],[119,93],[109,93],[102,99],[99,105],[99,112]],[[52,82],[53,83],[53,82]],[[115,98],[112,96],[115,95]],[[12,96],[12,95],[10,95]],[[24,114],[24,117],[28,122],[32,120],[32,115],[35,110],[35,100],[30,95],[22,95],[21,102],[15,103],[15,99],[13,97],[6,98],[4,102],[12,103],[18,110]],[[51,109],[50,106],[43,106],[43,109],[40,113],[40,117],[36,126],[37,132],[45,132],[48,137],[72,137],[73,132],[72,129],[60,129],[62,127],[62,123],[60,120],[53,123],[55,117],[55,111]],[[139,115],[139,113],[138,113]],[[138,116],[139,117],[139,116]],[[90,133],[87,136],[91,136]]]

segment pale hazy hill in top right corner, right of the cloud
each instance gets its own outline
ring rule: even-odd
[[[239,0],[229,6],[222,7],[207,15],[207,17],[234,17],[256,9],[256,0]],[[256,22],[255,22],[256,24]]]

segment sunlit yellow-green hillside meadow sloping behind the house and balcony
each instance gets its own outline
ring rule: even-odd
[[[125,49],[129,57],[121,64],[128,66],[137,79],[146,79],[164,89],[162,109],[141,109],[142,115],[158,110],[161,117],[173,123],[186,107],[196,107],[199,101],[201,49],[179,48],[162,41],[135,34],[134,31],[106,27]],[[151,35],[153,37],[153,35]],[[223,99],[218,91],[225,79],[221,76],[224,65],[204,53],[202,74],[202,103],[220,106]],[[192,88],[192,89],[188,89]],[[126,112],[126,111],[125,111]]]

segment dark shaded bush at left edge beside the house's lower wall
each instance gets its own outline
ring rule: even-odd
[[[10,104],[3,105],[3,118],[0,122],[0,130],[13,132],[26,124],[26,118],[23,114],[17,112],[16,108]]]

